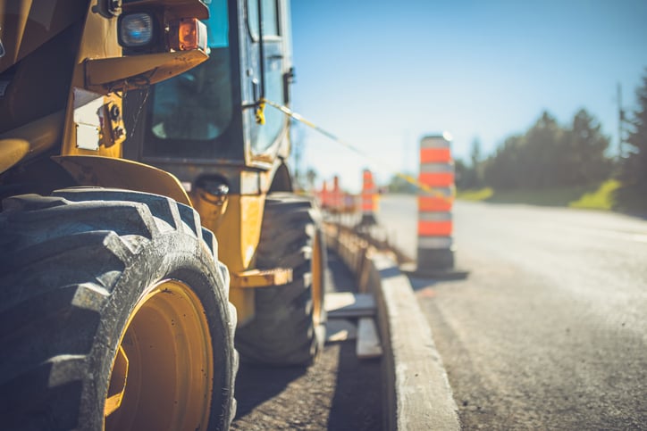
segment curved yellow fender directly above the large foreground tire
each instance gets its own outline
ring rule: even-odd
[[[178,178],[147,164],[109,157],[68,155],[53,157],[80,186],[126,188],[164,195],[190,205]]]

